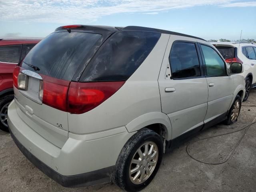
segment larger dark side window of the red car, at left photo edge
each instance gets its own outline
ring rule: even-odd
[[[18,63],[20,60],[21,45],[0,47],[0,62]]]

